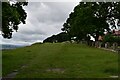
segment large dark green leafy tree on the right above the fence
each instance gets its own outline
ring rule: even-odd
[[[80,2],[63,25],[62,30],[79,40],[90,35],[98,40],[110,26],[116,28],[120,20],[119,2]]]

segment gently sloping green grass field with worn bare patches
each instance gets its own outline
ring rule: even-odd
[[[81,44],[46,43],[2,52],[3,76],[16,78],[110,78],[118,54]]]

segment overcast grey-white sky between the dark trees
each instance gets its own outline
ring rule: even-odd
[[[2,44],[32,44],[61,32],[63,23],[79,2],[29,2],[26,24],[20,24],[12,39],[3,39]]]

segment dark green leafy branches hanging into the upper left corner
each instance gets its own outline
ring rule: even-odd
[[[4,38],[12,38],[13,31],[18,30],[20,23],[25,24],[27,14],[23,6],[27,6],[28,2],[2,2],[2,36]]]

